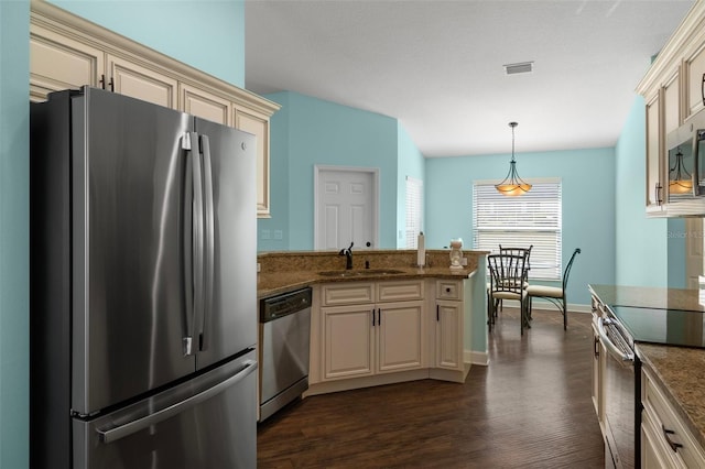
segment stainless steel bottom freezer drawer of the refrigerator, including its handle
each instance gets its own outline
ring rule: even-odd
[[[74,421],[75,468],[254,468],[254,352],[150,400]]]

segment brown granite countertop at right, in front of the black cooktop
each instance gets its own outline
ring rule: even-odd
[[[705,448],[705,350],[643,342],[634,348],[681,419]]]

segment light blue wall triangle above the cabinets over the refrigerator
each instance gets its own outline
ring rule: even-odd
[[[155,51],[245,87],[242,0],[50,0]]]

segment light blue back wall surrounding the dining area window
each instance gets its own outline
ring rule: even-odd
[[[499,181],[510,155],[426,160],[426,244],[446,247],[454,237],[473,246],[473,182]],[[581,248],[571,272],[568,301],[589,305],[588,283],[614,283],[614,149],[518,153],[523,178],[560,177],[563,182],[563,259]]]

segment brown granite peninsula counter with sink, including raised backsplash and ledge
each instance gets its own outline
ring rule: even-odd
[[[405,279],[467,279],[477,270],[478,257],[486,251],[464,251],[467,265],[451,269],[448,250],[427,250],[424,268],[415,266],[415,250],[375,250],[352,253],[352,270],[345,269],[345,258],[337,251],[268,252],[258,255],[260,273],[257,275],[257,295],[263,298],[292,290],[333,282],[360,282]],[[369,269],[365,263],[369,262]],[[387,273],[383,271],[395,271]],[[336,272],[340,275],[322,275]]]

